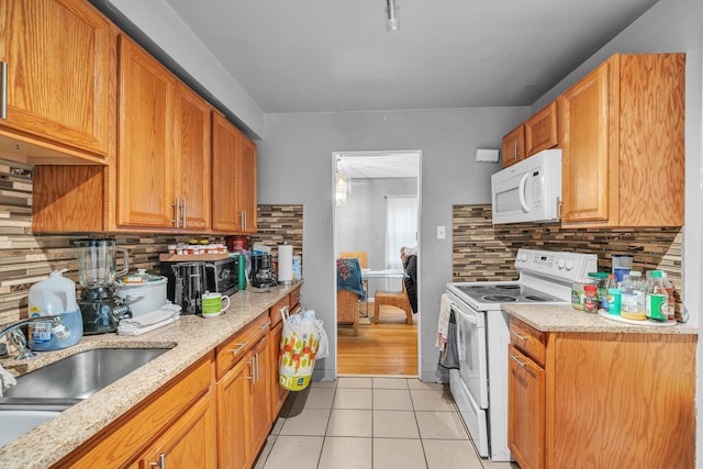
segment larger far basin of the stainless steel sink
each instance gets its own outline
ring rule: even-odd
[[[18,377],[18,384],[4,391],[0,407],[21,405],[68,405],[90,397],[169,348],[96,348],[80,351]]]

